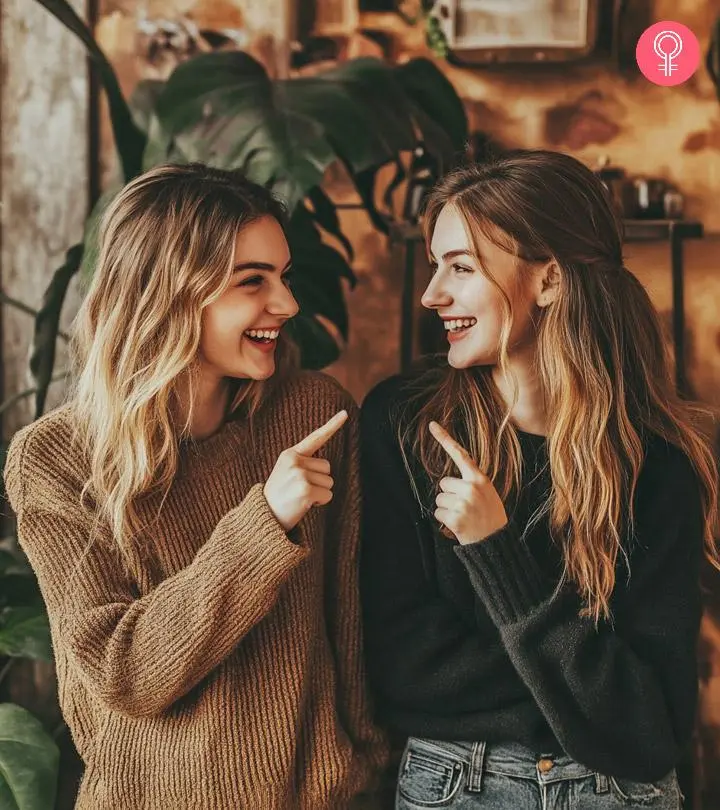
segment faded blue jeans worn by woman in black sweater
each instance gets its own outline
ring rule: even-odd
[[[411,737],[400,763],[396,810],[681,810],[675,771],[659,782],[604,776],[566,756],[514,743]]]

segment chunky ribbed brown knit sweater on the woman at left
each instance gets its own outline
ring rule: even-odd
[[[341,408],[350,420],[317,454],[334,498],[291,540],[262,482]],[[252,429],[236,419],[183,447],[159,517],[159,496],[141,504],[130,574],[107,529],[88,544],[71,407],[16,434],[5,481],[86,765],[76,808],[345,808],[382,767],[361,659],[356,426],[335,381],[301,373]]]

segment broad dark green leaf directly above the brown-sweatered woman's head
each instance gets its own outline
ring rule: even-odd
[[[438,101],[438,93],[449,98]],[[201,54],[164,87],[143,89],[137,105],[145,121],[153,98],[146,167],[175,159],[241,168],[272,185],[291,210],[335,160],[353,178],[374,176],[422,137],[449,163],[467,135],[452,85],[422,59],[399,68],[354,59],[313,77],[271,81],[248,54]]]

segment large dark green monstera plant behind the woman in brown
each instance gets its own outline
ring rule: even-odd
[[[401,153],[418,140],[441,168],[462,155],[467,120],[441,71],[426,59],[393,66],[363,58],[312,77],[276,80],[247,53],[218,51],[182,62],[165,82],[142,82],[126,101],[110,63],[66,0],[37,2],[81,39],[97,65],[122,169],[118,188],[159,163],[197,160],[241,169],[287,202],[300,304],[294,337],[304,366],[333,362],[349,328],[342,279],[352,286],[355,277],[350,242],[322,186],[325,172],[335,164],[343,167],[372,223],[387,232],[387,213],[375,205],[379,170],[394,165],[391,187],[397,185]],[[81,267],[93,272],[96,224],[111,197],[107,192],[96,205],[83,244],[69,249],[37,313],[30,362],[37,415],[53,378],[68,285]],[[323,231],[341,249],[329,244]]]

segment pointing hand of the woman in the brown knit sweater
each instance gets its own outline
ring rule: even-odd
[[[336,413],[329,422],[278,456],[263,494],[286,532],[295,528],[311,507],[325,506],[332,500],[330,462],[313,458],[313,454],[335,435],[347,418],[347,411]]]

